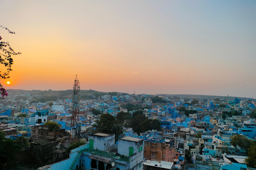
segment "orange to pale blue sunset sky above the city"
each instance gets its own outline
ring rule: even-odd
[[[256,1],[1,0],[6,89],[256,98]],[[1,70],[4,67],[1,65]],[[6,84],[10,81],[10,84]]]

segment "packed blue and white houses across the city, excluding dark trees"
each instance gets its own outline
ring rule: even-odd
[[[154,103],[154,97],[120,94],[81,100],[79,122],[86,145],[71,150],[69,158],[38,169],[249,168],[245,164],[245,148],[231,145],[231,138],[238,134],[255,140],[256,123],[250,118],[255,109],[254,100],[194,102],[193,99],[158,96],[164,102]],[[6,138],[15,140],[23,135],[33,139],[32,146],[37,150],[47,145],[57,148],[54,154],[61,159],[61,150],[74,142],[68,135],[73,102],[65,99],[33,103],[32,98],[19,94],[17,98],[0,101],[0,129],[6,132]],[[136,110],[131,111],[127,104],[140,106],[147,118],[159,120],[162,130],[137,134],[131,128],[124,128],[117,142],[114,134],[92,133],[92,125],[99,118],[93,110],[113,116],[119,112],[134,113]],[[23,116],[19,116],[21,114]],[[49,132],[44,128],[47,121],[60,124],[61,130]]]

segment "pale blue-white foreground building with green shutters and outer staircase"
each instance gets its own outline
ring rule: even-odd
[[[143,148],[143,139],[124,137],[117,145],[115,134],[93,133],[87,145],[70,151],[69,159],[38,169],[142,170]]]

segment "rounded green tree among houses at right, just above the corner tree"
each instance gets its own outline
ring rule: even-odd
[[[251,146],[252,140],[248,139],[244,135],[236,134],[236,135],[233,135],[233,137],[231,137],[231,144],[234,147],[236,147],[236,145],[238,145],[241,148],[247,149]]]

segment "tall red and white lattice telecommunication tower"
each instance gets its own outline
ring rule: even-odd
[[[79,122],[79,91],[80,91],[80,83],[77,79],[75,79],[75,83],[73,86],[73,111],[72,111],[72,118],[71,118],[71,131],[72,131],[72,138],[81,138],[81,122]]]

